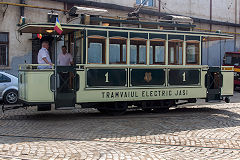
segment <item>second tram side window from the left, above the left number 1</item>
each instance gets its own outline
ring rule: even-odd
[[[109,41],[109,63],[126,64],[127,54],[126,39],[110,39]]]

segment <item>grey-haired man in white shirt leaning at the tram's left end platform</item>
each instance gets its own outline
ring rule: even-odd
[[[51,69],[52,61],[48,52],[49,42],[42,42],[42,48],[38,52],[38,64],[49,64],[48,66],[38,66],[38,69]]]

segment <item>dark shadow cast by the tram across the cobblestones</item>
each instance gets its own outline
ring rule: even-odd
[[[235,106],[238,108],[238,106]],[[240,109],[240,108],[238,108]],[[202,129],[236,127],[240,115],[225,109],[177,108],[168,113],[129,111],[123,116],[105,116],[96,110],[6,114],[0,119],[0,136],[15,137],[18,142],[42,140],[111,139],[172,134]],[[43,139],[42,139],[43,138]],[[1,138],[0,138],[1,139]],[[6,143],[0,140],[1,143]],[[8,141],[10,144],[11,141]],[[16,140],[12,143],[17,143]]]

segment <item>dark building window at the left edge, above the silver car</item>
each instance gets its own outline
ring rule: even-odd
[[[0,66],[8,66],[8,33],[0,33]]]

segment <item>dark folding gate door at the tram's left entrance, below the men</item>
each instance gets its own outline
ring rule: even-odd
[[[76,68],[57,66],[56,68],[55,108],[70,109],[76,103]]]

